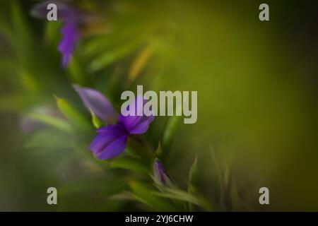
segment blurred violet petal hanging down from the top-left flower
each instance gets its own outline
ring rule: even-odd
[[[78,30],[78,25],[75,19],[66,20],[61,28],[61,34],[63,35],[61,42],[59,42],[59,52],[62,54],[62,66],[65,68],[76,47],[76,43],[81,37],[81,33]]]

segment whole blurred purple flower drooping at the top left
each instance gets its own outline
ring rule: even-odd
[[[81,38],[80,21],[78,11],[73,7],[64,4],[62,1],[43,1],[35,5],[31,10],[31,15],[37,18],[46,18],[47,5],[53,3],[57,5],[57,19],[63,21],[61,28],[61,42],[59,42],[59,52],[62,54],[62,66],[65,68],[71,60],[76,43]]]

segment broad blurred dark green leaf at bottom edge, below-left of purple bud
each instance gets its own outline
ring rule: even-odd
[[[152,186],[140,182],[130,182],[131,192],[138,201],[145,203],[147,206],[158,211],[177,211],[175,203],[167,198],[163,198],[154,194],[155,190]]]

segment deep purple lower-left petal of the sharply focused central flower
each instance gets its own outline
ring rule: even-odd
[[[102,160],[110,159],[122,153],[129,137],[121,124],[109,125],[98,129],[98,135],[90,143],[90,150]]]

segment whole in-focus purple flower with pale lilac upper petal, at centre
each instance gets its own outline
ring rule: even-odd
[[[84,105],[91,109],[100,119],[110,122],[110,119],[116,115],[114,108],[97,90],[90,88],[80,88],[75,85],[76,91],[79,93]],[[142,96],[136,97],[134,101],[135,113],[138,100],[143,100]],[[143,104],[145,100],[142,101]],[[101,160],[110,159],[122,153],[126,148],[126,142],[132,134],[146,133],[149,125],[155,118],[154,116],[124,116],[119,114],[116,124],[100,127],[92,143],[90,143],[90,150]]]

